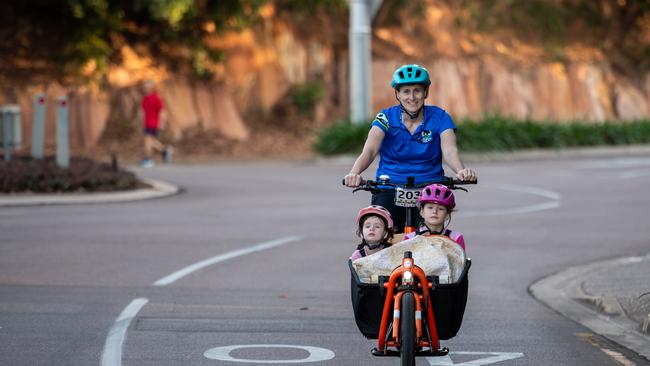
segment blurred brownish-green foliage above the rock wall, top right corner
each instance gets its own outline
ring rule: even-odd
[[[602,49],[621,69],[650,67],[648,0],[447,0],[463,27],[514,29],[550,46],[577,41]]]

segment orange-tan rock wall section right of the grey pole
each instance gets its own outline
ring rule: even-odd
[[[404,60],[403,62],[407,62]],[[375,109],[394,104],[387,87],[395,61],[373,63]],[[485,114],[552,121],[635,120],[650,116],[648,82],[616,76],[606,64],[547,63],[508,67],[495,60],[438,59],[428,102],[456,118]],[[640,80],[648,80],[645,75]]]

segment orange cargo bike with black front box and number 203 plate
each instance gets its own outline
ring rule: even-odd
[[[456,186],[473,183],[476,182],[446,177],[442,182],[452,189],[463,189]],[[413,184],[400,186],[386,178],[366,181],[355,191],[381,192],[386,187],[395,189],[396,206],[405,209],[417,207],[420,190]],[[408,214],[406,217],[410,221]],[[407,222],[405,232],[412,231],[414,227]],[[440,347],[440,340],[456,336],[460,329],[467,303],[469,258],[465,260],[460,278],[445,284],[441,284],[437,276],[427,276],[408,251],[404,253],[401,265],[390,276],[379,276],[377,284],[362,283],[351,260],[348,265],[352,275],[355,321],[366,338],[377,339],[377,347],[371,351],[374,356],[399,357],[402,366],[414,366],[415,357],[449,353],[449,349]]]

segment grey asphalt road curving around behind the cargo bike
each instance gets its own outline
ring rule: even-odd
[[[650,251],[650,157],[473,167],[452,221],[473,260],[465,319],[449,358],[418,365],[647,364],[528,286]],[[172,165],[138,171],[173,197],[0,209],[0,365],[398,364],[354,324],[347,258],[369,197],[340,185],[347,169]]]

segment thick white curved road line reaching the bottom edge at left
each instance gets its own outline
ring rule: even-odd
[[[115,319],[115,323],[108,331],[104,351],[102,352],[101,366],[120,366],[122,365],[122,345],[126,339],[126,330],[135,318],[140,309],[149,302],[149,299],[133,299],[129,305],[122,310],[120,316]]]

